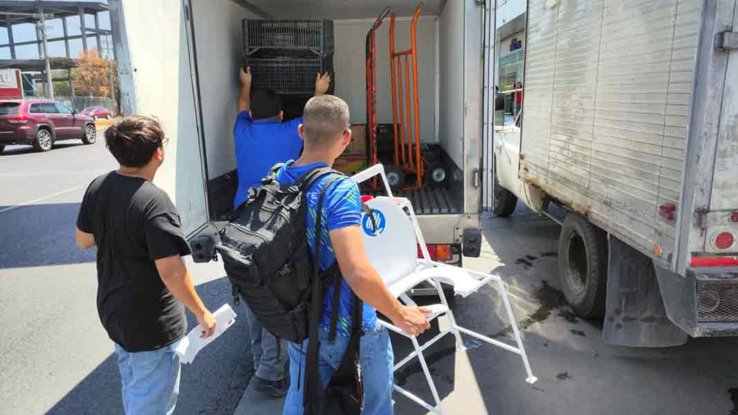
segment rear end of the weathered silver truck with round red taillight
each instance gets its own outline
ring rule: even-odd
[[[738,267],[737,3],[706,7],[677,237],[680,274],[689,267]]]

